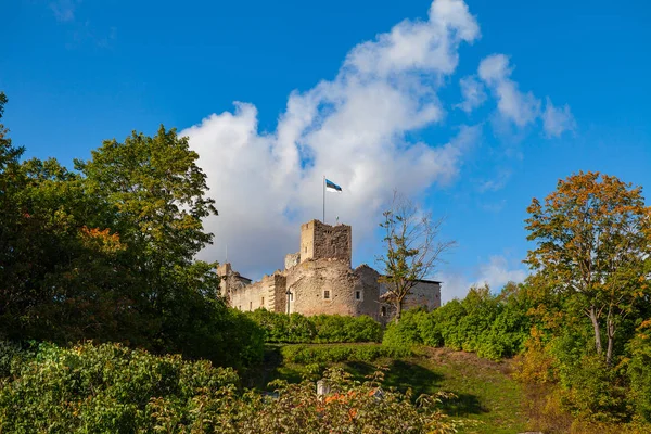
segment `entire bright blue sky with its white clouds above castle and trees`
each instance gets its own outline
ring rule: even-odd
[[[651,188],[651,7],[642,1],[3,4],[4,123],[65,165],[110,138],[177,127],[220,216],[214,246],[257,278],[298,224],[353,225],[374,264],[393,190],[458,241],[444,299],[521,280],[532,197],[599,170]],[[233,105],[234,102],[239,102]],[[649,201],[648,201],[649,203]]]

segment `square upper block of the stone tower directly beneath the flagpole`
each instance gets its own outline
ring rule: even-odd
[[[307,259],[341,259],[350,266],[353,229],[348,225],[326,225],[311,220],[301,225],[301,263]]]

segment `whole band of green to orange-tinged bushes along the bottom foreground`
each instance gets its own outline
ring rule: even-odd
[[[330,370],[314,382],[275,383],[275,396],[239,391],[231,369],[119,345],[41,345],[0,380],[2,432],[451,433],[438,396],[413,404],[381,388],[382,374],[354,382]]]

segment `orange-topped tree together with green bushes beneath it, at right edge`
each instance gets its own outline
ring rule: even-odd
[[[579,173],[528,212],[534,327],[520,379],[549,384],[578,424],[648,420],[651,208],[641,188]]]

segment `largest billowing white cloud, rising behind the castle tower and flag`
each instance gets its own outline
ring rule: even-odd
[[[463,1],[435,0],[427,21],[399,23],[355,47],[333,80],[292,92],[276,131],[260,133],[245,103],[181,131],[219,209],[205,221],[215,245],[201,256],[224,260],[228,244],[229,260],[250,277],[282,267],[297,250],[298,225],[321,219],[322,175],[344,189],[327,196],[326,218],[352,224],[355,242],[372,233],[394,189],[414,195],[450,182],[482,127],[459,126],[447,143],[407,133],[441,122],[438,87],[459,46],[477,37]]]

